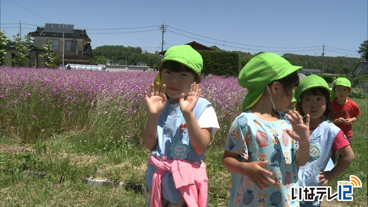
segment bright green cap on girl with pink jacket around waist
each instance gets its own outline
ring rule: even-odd
[[[203,67],[202,56],[190,45],[176,45],[167,49],[161,63],[164,63],[167,60],[181,63],[192,69],[198,76],[201,75]],[[157,74],[153,83],[159,82],[161,85],[160,75],[160,73]]]

